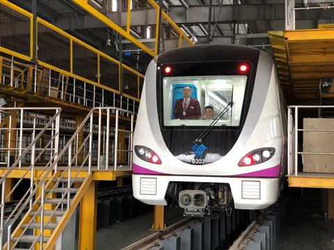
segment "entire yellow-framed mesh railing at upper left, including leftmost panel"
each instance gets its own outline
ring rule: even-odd
[[[6,15],[3,15],[5,12]],[[6,0],[0,0],[0,17],[1,14],[4,20],[1,26],[8,27],[6,28],[8,33],[16,33],[6,36],[6,39],[1,38],[0,51],[31,61],[33,58],[33,15]],[[14,22],[10,17],[15,17],[16,21]],[[17,19],[21,21],[17,23]],[[28,26],[29,28],[26,29]],[[17,36],[17,33],[21,36]],[[15,42],[11,42],[11,37],[15,39]],[[29,40],[26,37],[29,37]],[[110,92],[120,94],[120,70],[122,70],[122,83],[129,87],[123,90],[123,96],[139,101],[144,76],[131,67],[123,63],[120,67],[120,62],[115,58],[39,17],[37,18],[35,42],[38,48],[39,65]],[[24,49],[27,50],[27,44],[29,44],[29,49],[24,51]]]

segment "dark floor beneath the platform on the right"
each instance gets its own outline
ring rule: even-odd
[[[322,190],[291,189],[288,215],[276,250],[334,250],[334,221],[325,218]]]

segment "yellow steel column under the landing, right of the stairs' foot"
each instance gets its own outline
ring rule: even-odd
[[[97,221],[97,183],[92,181],[80,202],[79,247],[78,249],[95,249]]]

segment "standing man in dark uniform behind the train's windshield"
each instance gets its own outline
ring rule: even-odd
[[[183,98],[176,100],[174,108],[175,119],[199,119],[200,103],[191,98],[191,88],[183,88]]]

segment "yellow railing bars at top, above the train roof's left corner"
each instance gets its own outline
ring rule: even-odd
[[[142,49],[143,51],[148,53],[150,56],[156,56],[157,55],[157,53],[158,53],[157,44],[158,44],[158,41],[159,41],[159,39],[157,39],[157,35],[158,35],[157,28],[156,28],[156,33],[155,33],[154,51],[152,51],[152,49],[148,48],[145,44],[140,42],[130,32],[130,27],[132,25],[131,24],[131,12],[132,12],[132,10],[131,10],[130,6],[131,6],[131,1],[132,0],[127,0],[128,3],[127,3],[127,24],[126,24],[126,28],[122,28],[122,26],[116,24],[116,20],[114,20],[113,17],[111,17],[110,15],[106,15],[106,11],[104,11],[103,8],[100,8],[100,9],[95,8],[94,5],[91,4],[92,0],[72,0],[72,1],[74,3],[77,3],[78,6],[80,6],[81,8],[86,10],[87,12],[89,12],[91,15],[93,15],[97,19],[100,19],[100,21],[102,21],[104,24],[106,24],[110,28],[113,28],[113,30],[115,30],[120,35],[122,35],[122,37],[126,38],[127,40],[129,40],[130,42],[135,44],[139,49]],[[107,0],[105,0],[105,1],[107,1]],[[120,0],[118,0],[118,1],[120,1]],[[147,0],[147,1],[150,5],[150,8],[152,8],[156,11],[156,17],[157,17],[156,26],[159,26],[160,6],[154,0]],[[166,12],[164,12],[164,10],[162,10],[161,13],[162,13],[161,22],[165,21],[168,25],[173,27],[173,29],[175,30],[175,32],[177,33],[177,35],[179,37],[179,42],[178,42],[177,47],[182,47],[182,44],[184,44],[184,42],[186,42],[186,44],[188,44],[188,45],[189,44],[192,45],[192,42],[190,41],[188,36],[182,31],[182,29],[179,26],[177,26],[177,24],[175,24],[175,22],[173,22],[173,19],[171,19],[168,16],[168,14]]]

